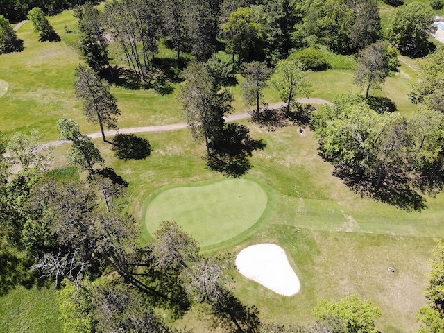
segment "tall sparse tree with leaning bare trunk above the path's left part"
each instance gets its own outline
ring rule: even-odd
[[[110,88],[97,76],[92,69],[83,65],[76,67],[77,99],[83,101],[83,112],[88,121],[99,123],[102,139],[106,142],[103,125],[108,129],[117,128],[117,116],[120,114],[117,108],[117,100],[110,93]]]

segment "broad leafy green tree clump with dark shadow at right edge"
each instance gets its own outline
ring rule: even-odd
[[[366,103],[343,99],[323,106],[311,126],[323,158],[355,191],[405,210],[421,210],[443,189],[443,115],[378,114]]]

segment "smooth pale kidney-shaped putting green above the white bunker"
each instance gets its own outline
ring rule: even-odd
[[[174,187],[151,200],[145,225],[153,234],[162,221],[174,220],[192,234],[200,246],[210,246],[253,226],[262,216],[267,201],[264,189],[246,179]]]

